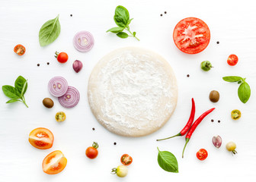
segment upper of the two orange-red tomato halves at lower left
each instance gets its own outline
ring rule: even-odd
[[[38,127],[30,132],[28,141],[37,149],[50,149],[53,146],[53,133],[44,128]]]

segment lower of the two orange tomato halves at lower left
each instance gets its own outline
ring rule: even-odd
[[[61,151],[51,152],[43,159],[43,172],[46,174],[58,174],[66,167],[67,159]]]

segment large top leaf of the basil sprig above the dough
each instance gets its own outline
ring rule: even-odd
[[[119,5],[115,10],[114,21],[118,27],[126,27],[128,20],[130,19],[129,12],[126,8]]]

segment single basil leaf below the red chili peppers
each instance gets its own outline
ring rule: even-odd
[[[178,173],[177,158],[171,152],[158,149],[158,165],[165,171]]]

